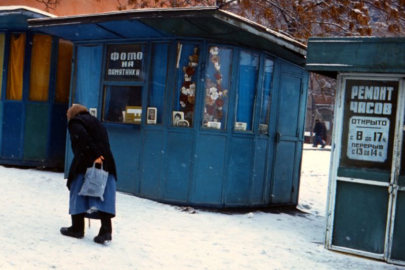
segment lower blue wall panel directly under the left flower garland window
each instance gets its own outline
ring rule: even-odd
[[[165,152],[164,199],[178,202],[188,200],[191,173],[193,134],[169,132]]]

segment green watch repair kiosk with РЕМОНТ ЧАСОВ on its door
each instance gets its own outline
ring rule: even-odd
[[[337,78],[326,247],[405,265],[405,38],[310,38]]]

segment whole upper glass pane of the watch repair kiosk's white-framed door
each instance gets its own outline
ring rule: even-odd
[[[397,81],[347,80],[338,175],[389,181]]]

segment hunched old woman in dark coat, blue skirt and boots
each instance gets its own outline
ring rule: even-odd
[[[70,191],[69,214],[72,225],[62,227],[60,232],[64,236],[83,238],[85,217],[100,219],[101,227],[94,242],[101,244],[112,239],[111,218],[115,217],[116,170],[108,134],[101,122],[83,105],[72,105],[67,110],[67,119],[74,154],[66,184]],[[86,170],[92,167],[94,162],[102,163],[103,170],[108,172],[104,201],[99,197],[78,195]]]

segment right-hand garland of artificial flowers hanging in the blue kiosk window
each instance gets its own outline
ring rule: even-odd
[[[204,108],[204,124],[208,122],[222,122],[223,107],[226,103],[228,90],[222,89],[220,49],[216,46],[210,48],[210,60],[215,72],[213,79],[206,79],[206,105]]]

